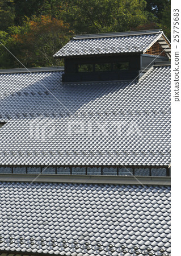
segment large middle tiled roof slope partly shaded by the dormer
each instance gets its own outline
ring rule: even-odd
[[[0,75],[0,164],[170,164],[169,66],[131,84],[61,76]]]

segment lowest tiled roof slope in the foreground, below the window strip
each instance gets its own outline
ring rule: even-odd
[[[170,187],[1,182],[0,251],[170,255]]]

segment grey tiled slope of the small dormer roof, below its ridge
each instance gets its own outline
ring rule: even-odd
[[[107,38],[73,38],[54,57],[101,55],[110,53],[144,52],[160,35],[156,34],[116,36]]]

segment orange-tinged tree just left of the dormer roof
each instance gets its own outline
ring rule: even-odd
[[[16,36],[20,42],[26,65],[42,67],[44,63],[50,66],[60,65],[60,60],[52,56],[63,47],[73,35],[69,24],[50,16],[33,17],[29,22],[30,29],[24,34]]]

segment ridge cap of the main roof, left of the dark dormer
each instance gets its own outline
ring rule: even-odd
[[[44,68],[11,68],[11,69],[0,69],[0,74],[3,74],[3,73],[51,72],[51,71],[64,71],[64,66],[60,66],[60,67],[44,67]]]

